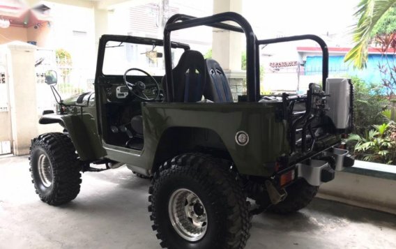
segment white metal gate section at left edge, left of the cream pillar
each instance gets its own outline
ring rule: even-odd
[[[0,155],[12,153],[13,141],[6,59],[6,52],[0,50]]]

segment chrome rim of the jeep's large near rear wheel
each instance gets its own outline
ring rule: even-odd
[[[201,199],[191,190],[180,188],[168,204],[169,219],[175,231],[187,241],[199,241],[206,234],[208,217]]]

